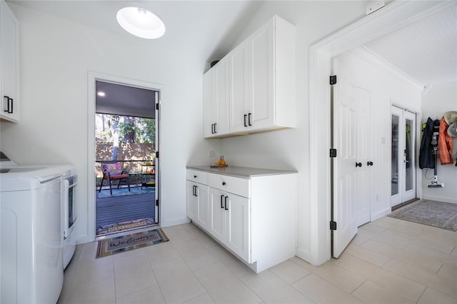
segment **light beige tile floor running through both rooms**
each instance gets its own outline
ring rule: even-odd
[[[253,273],[193,224],[106,258],[79,245],[59,303],[457,303],[457,233],[384,217],[338,259]]]

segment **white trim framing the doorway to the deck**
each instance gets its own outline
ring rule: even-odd
[[[95,175],[94,163],[95,159],[95,81],[101,80],[111,83],[125,84],[129,86],[135,86],[138,88],[149,88],[154,91],[159,91],[160,100],[159,103],[164,101],[164,85],[159,83],[151,83],[148,81],[141,81],[138,79],[125,78],[121,76],[115,76],[111,74],[99,73],[96,71],[88,71],[87,75],[87,234],[79,236],[78,243],[88,243],[95,240]],[[159,128],[159,139],[160,139],[160,128]],[[160,147],[160,143],[158,145]],[[161,155],[159,163],[161,162]],[[160,166],[160,165],[159,165]],[[159,170],[159,181],[164,181],[164,170]],[[159,203],[164,201],[164,186],[163,183],[159,183]],[[161,204],[159,214],[159,224],[164,221],[163,214],[164,206]]]

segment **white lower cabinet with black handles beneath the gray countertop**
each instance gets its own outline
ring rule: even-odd
[[[244,176],[237,177],[192,168],[187,216],[197,226],[256,273],[295,255],[296,173],[250,175],[251,168],[239,168]]]

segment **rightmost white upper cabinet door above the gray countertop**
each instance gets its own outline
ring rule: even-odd
[[[251,96],[248,115],[251,129],[261,129],[274,124],[273,91],[273,22],[268,22],[253,34],[251,44]]]

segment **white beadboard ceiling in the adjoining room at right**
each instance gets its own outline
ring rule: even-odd
[[[457,81],[457,2],[365,44],[423,86]]]

